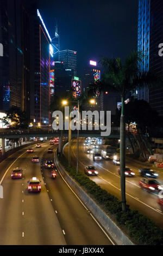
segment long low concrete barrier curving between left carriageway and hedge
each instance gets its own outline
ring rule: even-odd
[[[77,196],[82,200],[84,205],[90,210],[92,215],[97,219],[97,221],[105,229],[117,245],[134,245],[134,243],[129,239],[129,237],[123,233],[123,231],[117,227],[116,223],[112,221],[108,215],[95,203],[93,199],[79,186],[79,184],[70,177],[65,171],[64,166],[58,160],[57,154],[55,154],[55,163],[61,175],[65,178],[66,182],[77,194]]]

